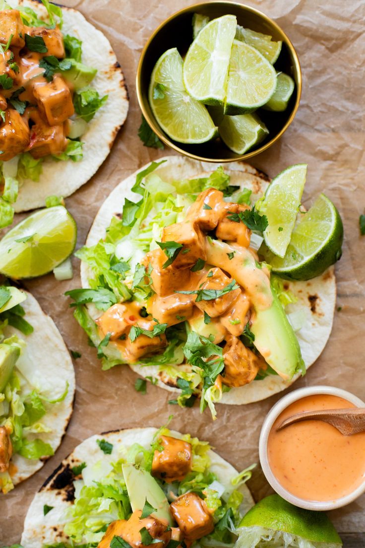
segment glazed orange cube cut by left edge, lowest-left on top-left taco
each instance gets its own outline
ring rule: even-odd
[[[5,122],[0,124],[0,161],[11,160],[20,152],[24,152],[29,144],[30,134],[28,124],[14,109],[5,110]]]

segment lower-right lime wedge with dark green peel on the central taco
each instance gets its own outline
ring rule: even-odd
[[[340,214],[331,200],[320,194],[294,227],[283,259],[265,249],[264,244],[260,253],[280,276],[311,279],[340,259],[343,236]]]

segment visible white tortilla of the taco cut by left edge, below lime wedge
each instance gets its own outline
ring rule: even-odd
[[[33,387],[42,391],[42,395],[49,399],[56,399],[62,395],[68,382],[67,396],[62,402],[53,405],[45,402],[47,414],[40,422],[49,427],[51,432],[27,436],[29,439],[43,439],[56,451],[65,435],[73,410],[75,393],[73,364],[53,319],[43,312],[30,293],[24,293],[27,299],[21,303],[21,306],[25,310],[25,319],[33,326],[34,331],[30,335],[24,335],[18,329],[8,326],[4,329],[4,335],[8,338],[15,334],[26,342],[26,347],[16,362],[16,370],[20,371]],[[11,462],[18,469],[11,478],[14,485],[32,476],[48,459],[49,457],[45,456],[38,460],[30,460],[18,454],[13,455]]]

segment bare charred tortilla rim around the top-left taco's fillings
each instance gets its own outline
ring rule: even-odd
[[[8,3],[13,8],[18,5],[29,7],[41,19],[48,18],[47,10],[36,0],[9,0]],[[43,173],[38,182],[21,181],[14,204],[16,213],[44,207],[47,196],[67,197],[84,185],[105,161],[128,112],[129,99],[123,72],[108,39],[76,9],[62,6],[62,13],[63,35],[69,34],[82,41],[82,62],[97,68],[90,85],[101,97],[108,95],[108,100],[88,123],[82,136],[83,159],[80,162],[44,159]]]

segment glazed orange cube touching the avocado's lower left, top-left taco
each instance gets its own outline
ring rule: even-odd
[[[71,92],[60,76],[55,76],[51,82],[34,83],[32,91],[38,109],[49,125],[63,124],[73,115]]]

